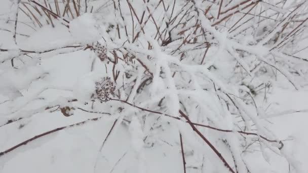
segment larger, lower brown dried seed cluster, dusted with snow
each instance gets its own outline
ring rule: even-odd
[[[100,81],[95,82],[95,94],[92,95],[92,101],[98,99],[101,103],[110,100],[114,96],[115,85],[110,77],[103,77]]]

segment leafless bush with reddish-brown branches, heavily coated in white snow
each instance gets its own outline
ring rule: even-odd
[[[247,165],[251,163],[243,157],[243,153],[253,147],[261,148],[262,152],[265,148],[270,149],[288,159],[294,170],[299,171],[300,168],[292,164],[292,159],[282,152],[282,139],[277,139],[263,126],[265,109],[255,100],[266,100],[266,93],[271,91],[271,81],[278,74],[285,76],[294,89],[302,88],[300,79],[306,75],[308,66],[301,64],[308,60],[294,54],[304,50],[297,45],[307,37],[307,3],[305,0],[31,0],[15,3],[18,10],[12,13],[20,13],[16,15],[18,18],[29,20],[28,27],[33,30],[46,25],[75,29],[71,28],[71,21],[91,13],[86,19],[95,19],[94,27],[101,39],[93,39],[92,44],[79,40],[71,45],[39,51],[18,47],[10,49],[3,45],[0,47],[2,66],[18,70],[30,67],[34,61],[40,62],[41,56],[48,57],[50,53],[90,51],[95,56],[91,71],[95,72],[99,65],[106,72],[98,79],[84,81],[94,85],[89,91],[91,95],[85,98],[92,104],[85,104],[85,108],[78,106],[84,100],[65,98],[52,104],[47,101],[47,105],[36,108],[27,116],[22,115],[27,104],[49,90],[45,88],[34,96],[24,97],[25,104],[7,113],[13,118],[8,118],[0,128],[51,109],[51,112],[61,111],[65,116],[71,116],[72,110],[96,113],[99,119],[111,114],[116,120],[114,124],[123,122],[129,125],[137,117],[142,126],[139,130],[144,133],[140,137],[142,145],[156,145],[160,136],[153,134],[159,133],[158,129],[176,128],[180,134],[178,141],[184,172],[187,168],[184,157],[194,157],[202,163],[202,167],[204,162],[219,160],[219,164],[215,162],[215,165],[226,169],[219,168],[218,171],[253,172]],[[27,27],[17,24],[15,22],[15,30],[12,31],[15,40],[22,27]],[[22,35],[27,34],[17,35],[17,45],[18,37],[22,39]],[[17,91],[30,86],[31,82]],[[108,113],[100,112],[100,108]],[[114,124],[110,132],[113,127],[117,128]],[[37,138],[42,136],[45,135]],[[178,136],[170,137],[173,138]],[[211,150],[206,151],[214,153],[215,157],[207,157],[208,153],[202,151],[200,159],[197,148],[192,149],[197,152],[192,156],[185,154],[183,143],[194,140],[190,143],[201,144],[200,139],[204,142],[202,145]],[[0,155],[8,154],[17,147]],[[139,148],[137,152],[142,150]],[[204,170],[202,167],[197,166],[197,169]]]

